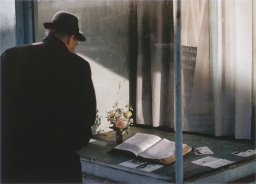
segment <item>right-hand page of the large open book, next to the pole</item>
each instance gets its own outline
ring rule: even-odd
[[[154,144],[139,156],[148,159],[164,159],[174,154],[175,142],[161,139],[158,143]]]

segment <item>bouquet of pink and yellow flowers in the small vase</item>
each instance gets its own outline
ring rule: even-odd
[[[132,107],[127,104],[125,105],[126,109],[122,109],[118,107],[118,102],[114,103],[113,109],[106,112],[107,121],[110,122],[110,129],[113,129],[116,132],[124,132],[128,133],[129,126],[132,125],[133,119],[132,116]]]

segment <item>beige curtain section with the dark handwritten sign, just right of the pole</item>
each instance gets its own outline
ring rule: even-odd
[[[208,1],[181,1],[183,130],[213,134]]]

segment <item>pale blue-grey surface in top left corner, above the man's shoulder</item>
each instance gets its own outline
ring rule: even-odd
[[[16,45],[15,40],[15,1],[0,1],[0,54],[6,48]]]

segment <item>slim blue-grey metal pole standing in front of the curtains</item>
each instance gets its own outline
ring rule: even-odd
[[[175,151],[176,151],[176,183],[183,183],[183,147],[182,147],[182,111],[181,111],[181,66],[180,66],[180,32],[181,2],[177,0],[177,24],[174,38],[174,70],[175,70]]]

